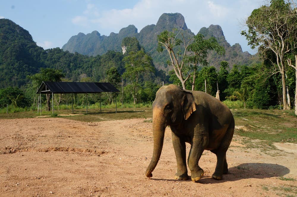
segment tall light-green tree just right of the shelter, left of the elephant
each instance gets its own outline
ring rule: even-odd
[[[137,102],[137,93],[140,87],[140,80],[143,75],[154,71],[151,56],[142,50],[138,52],[130,52],[124,57],[125,72],[123,77],[130,83],[126,89],[132,94],[134,104]]]

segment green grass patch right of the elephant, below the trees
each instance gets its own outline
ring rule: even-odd
[[[273,142],[297,143],[297,119],[290,111],[241,109],[232,113],[235,125],[246,128],[236,129],[236,135],[263,140],[268,146]]]

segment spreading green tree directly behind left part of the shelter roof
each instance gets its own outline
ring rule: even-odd
[[[62,81],[63,77],[65,77],[65,74],[63,74],[61,70],[41,68],[39,73],[29,76],[29,79],[32,80],[32,85],[36,87],[37,90],[42,81]],[[50,94],[47,93],[45,96],[48,111],[50,111]]]

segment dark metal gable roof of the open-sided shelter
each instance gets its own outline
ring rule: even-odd
[[[111,83],[99,82],[42,82],[37,93],[100,93],[119,92]]]

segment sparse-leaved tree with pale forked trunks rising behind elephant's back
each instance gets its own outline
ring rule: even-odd
[[[182,35],[183,40],[181,40],[178,38],[181,31],[177,34],[175,31],[175,29],[172,32],[165,30],[157,36],[157,51],[162,52],[164,48],[167,50],[170,58],[168,65],[173,66],[173,70],[184,90],[186,89],[186,81],[192,76],[191,83],[192,90],[194,90],[197,67],[207,65],[208,50],[216,50],[218,53],[223,54],[225,49],[219,46],[214,37],[204,40],[202,34],[197,34],[193,39],[186,40]],[[182,52],[177,50],[177,47],[181,44],[183,44]]]

